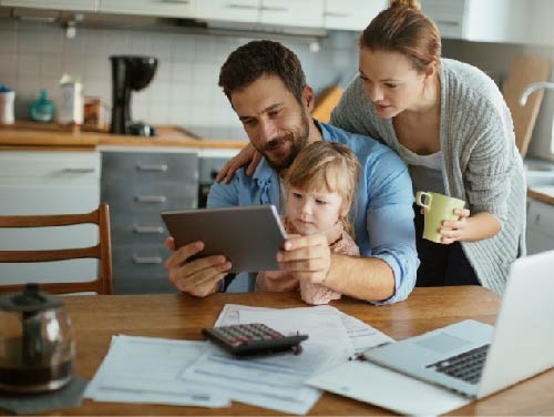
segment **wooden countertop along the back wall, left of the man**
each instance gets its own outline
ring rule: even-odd
[[[196,139],[175,126],[156,126],[155,138],[117,135],[104,132],[82,132],[57,124],[18,122],[0,126],[0,150],[82,149],[96,146],[175,146],[199,149],[242,149],[245,141]]]

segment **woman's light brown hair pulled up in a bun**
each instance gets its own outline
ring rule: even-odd
[[[391,0],[360,35],[360,47],[372,51],[400,52],[416,71],[440,65],[441,35],[437,26],[421,12],[417,0]]]

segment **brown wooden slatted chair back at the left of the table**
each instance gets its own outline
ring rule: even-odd
[[[112,294],[112,247],[110,235],[110,211],[107,204],[101,204],[86,214],[57,215],[3,215],[0,227],[50,227],[75,224],[98,224],[100,242],[95,246],[52,251],[0,251],[0,263],[51,262],[78,258],[100,260],[100,277],[89,282],[47,283],[41,288],[52,294],[95,292]],[[20,291],[23,285],[0,285],[0,293]]]

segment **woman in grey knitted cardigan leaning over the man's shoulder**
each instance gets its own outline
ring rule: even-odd
[[[360,37],[359,70],[331,123],[392,148],[414,192],[466,202],[454,212],[459,221],[443,222],[440,244],[422,240],[414,207],[417,285],[481,284],[501,293],[510,265],[525,254],[525,182],[499,89],[479,69],[441,59],[439,31],[414,0],[392,0],[371,21]],[[228,167],[252,155],[245,150]]]

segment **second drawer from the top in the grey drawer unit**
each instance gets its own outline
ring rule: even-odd
[[[114,214],[156,213],[166,210],[194,208],[197,204],[197,184],[138,183],[113,181],[102,187],[102,201]]]

